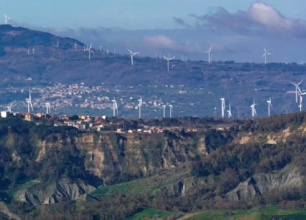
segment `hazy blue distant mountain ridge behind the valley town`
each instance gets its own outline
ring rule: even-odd
[[[58,42],[58,47],[57,47]],[[75,50],[74,44],[78,47]],[[89,44],[90,42],[88,42]],[[0,25],[0,76],[5,85],[24,83],[105,83],[105,85],[207,85],[227,89],[248,82],[252,86],[267,86],[272,81],[283,83],[293,76],[299,80],[306,71],[305,65],[270,63],[204,61],[170,62],[149,57],[135,57],[131,65],[129,54],[107,54],[93,50],[89,61],[84,43],[45,32]],[[94,45],[94,47],[98,45]],[[34,48],[34,54],[32,49]],[[30,54],[28,54],[30,50]],[[285,78],[280,78],[285,76]],[[281,85],[279,85],[281,86]]]

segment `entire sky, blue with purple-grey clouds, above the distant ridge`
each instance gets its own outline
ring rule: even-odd
[[[141,56],[304,63],[305,0],[0,0],[12,24]],[[4,22],[4,17],[3,17]],[[0,23],[1,17],[0,17]]]

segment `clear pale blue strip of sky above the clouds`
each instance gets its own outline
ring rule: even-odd
[[[191,21],[222,6],[229,12],[248,10],[254,0],[1,0],[0,12],[18,23],[53,28],[178,28],[173,17]],[[266,0],[286,17],[305,19],[305,0]],[[1,20],[0,20],[1,21]],[[2,22],[1,22],[2,23]]]

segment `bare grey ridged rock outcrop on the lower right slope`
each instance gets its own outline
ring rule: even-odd
[[[250,177],[247,181],[242,182],[226,194],[226,198],[230,201],[252,201],[256,195],[265,197],[269,192],[278,190],[290,190],[303,186],[303,175],[300,175],[298,170],[289,167],[284,168],[278,173],[259,174]]]

